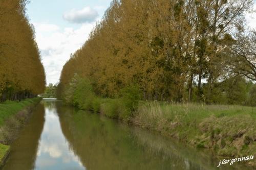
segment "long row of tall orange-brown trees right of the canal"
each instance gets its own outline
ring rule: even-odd
[[[58,93],[78,74],[102,96],[137,84],[144,99],[243,102],[256,81],[256,34],[245,21],[252,7],[251,0],[114,0],[63,67]]]

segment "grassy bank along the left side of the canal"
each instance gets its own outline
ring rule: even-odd
[[[18,137],[18,133],[26,124],[33,107],[40,101],[41,98],[31,98],[20,102],[6,101],[0,103],[0,166],[8,157],[9,144]]]

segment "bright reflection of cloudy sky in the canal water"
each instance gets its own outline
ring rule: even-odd
[[[84,169],[62,134],[56,110],[46,108],[45,119],[35,162],[36,169]]]

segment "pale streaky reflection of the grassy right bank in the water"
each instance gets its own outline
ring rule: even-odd
[[[148,153],[160,156],[162,159],[171,160],[177,169],[251,169],[243,164],[217,167],[219,159],[213,158],[209,152],[206,153],[206,150],[184,148],[184,143],[170,141],[159,134],[148,133],[141,128],[133,128],[132,132],[139,147],[143,147]]]

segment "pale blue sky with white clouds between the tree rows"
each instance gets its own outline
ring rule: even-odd
[[[47,84],[59,81],[63,65],[78,50],[112,0],[31,0],[27,15],[46,71]],[[254,5],[256,10],[256,3]],[[246,16],[256,29],[256,14]]]

